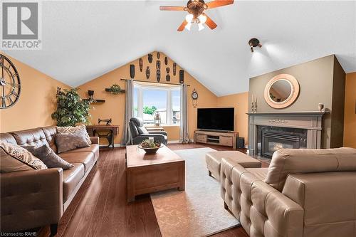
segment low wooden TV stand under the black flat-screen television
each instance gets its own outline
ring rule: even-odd
[[[215,144],[236,149],[236,136],[239,132],[194,131],[194,143]]]

